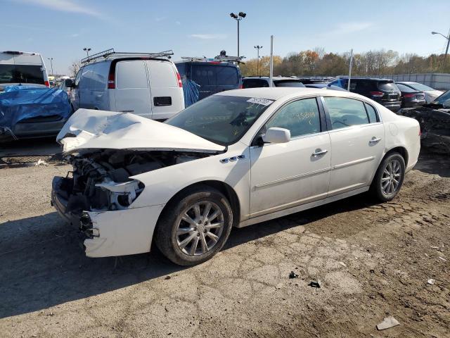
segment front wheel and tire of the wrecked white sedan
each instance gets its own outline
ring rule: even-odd
[[[195,265],[212,258],[224,246],[232,225],[233,211],[224,194],[209,186],[193,187],[162,211],[155,244],[173,263]]]

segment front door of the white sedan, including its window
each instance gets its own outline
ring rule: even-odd
[[[322,111],[323,112],[323,111]],[[290,130],[290,142],[250,147],[250,217],[326,198],[331,146],[316,98],[281,107],[262,128]]]

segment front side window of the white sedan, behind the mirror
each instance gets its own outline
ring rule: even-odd
[[[290,130],[290,137],[321,131],[319,107],[315,98],[291,102],[281,108],[267,124]]]

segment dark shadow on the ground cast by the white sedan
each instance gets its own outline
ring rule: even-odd
[[[224,250],[275,232],[370,206],[353,197],[243,229],[233,229]],[[56,213],[8,221],[0,226],[0,318],[39,311],[184,270],[157,249],[150,254],[86,258],[77,230]],[[214,259],[214,258],[213,258]]]

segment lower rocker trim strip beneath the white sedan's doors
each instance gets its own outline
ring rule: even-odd
[[[367,192],[369,187],[362,187],[359,189],[352,190],[351,192],[345,192],[343,194],[335,195],[327,197],[326,199],[321,199],[319,201],[310,202],[307,204],[302,204],[300,206],[295,206],[293,208],[283,209],[281,211],[276,211],[274,213],[268,213],[265,215],[257,216],[250,218],[248,220],[244,220],[240,222],[236,227],[247,227],[248,225],[252,225],[255,223],[265,222],[266,220],[273,220],[274,218],[283,217],[285,215],[290,215],[291,213],[298,213],[299,211],[304,211],[310,208],[314,208],[316,206],[323,206],[323,204],[328,204],[334,201],[338,201],[340,199],[346,199],[347,197],[354,196],[357,194],[361,194],[362,192]]]

